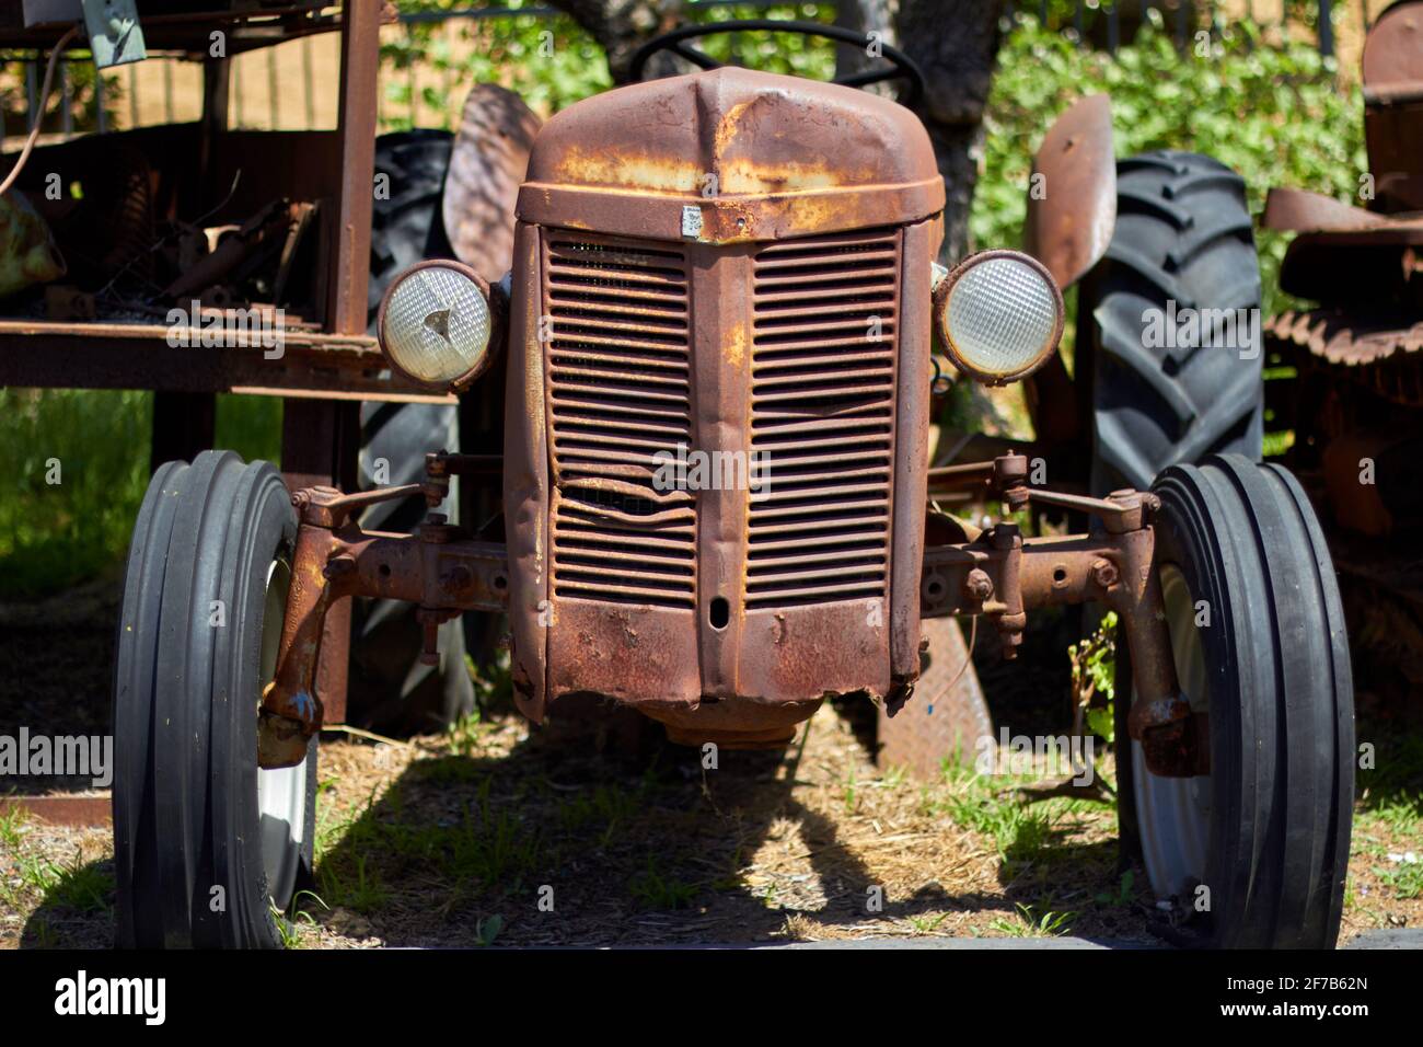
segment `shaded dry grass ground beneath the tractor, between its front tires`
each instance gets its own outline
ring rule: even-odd
[[[468,759],[443,748],[336,748],[329,909],[303,906],[303,943],[468,944],[495,917],[499,944],[1003,934],[1026,932],[1019,903],[1080,910],[1079,933],[1144,933],[1130,907],[1093,902],[1117,886],[1106,805],[1026,812],[969,776],[882,776],[828,709],[803,751],[721,752],[717,769],[670,746],[630,769],[512,721]]]

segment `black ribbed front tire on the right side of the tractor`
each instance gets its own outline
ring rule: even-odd
[[[1210,773],[1153,775],[1117,702],[1123,839],[1202,944],[1332,947],[1353,809],[1353,684],[1333,564],[1309,501],[1239,456],[1168,469],[1155,563]],[[1131,692],[1118,647],[1118,694]],[[1133,695],[1134,697],[1134,695]]]

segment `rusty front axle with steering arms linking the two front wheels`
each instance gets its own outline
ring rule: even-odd
[[[262,766],[299,762],[306,739],[322,726],[316,665],[324,620],[337,601],[359,595],[417,604],[431,661],[438,658],[434,644],[440,623],[464,611],[508,610],[517,570],[511,570],[505,544],[477,541],[438,514],[431,514],[414,534],[363,531],[351,521],[361,507],[390,499],[418,494],[438,506],[451,474],[488,464],[471,456],[431,454],[424,483],[360,494],[310,487],[293,496],[300,527],[276,675],[262,698]],[[1202,715],[1192,714],[1180,694],[1153,563],[1150,517],[1160,503],[1151,494],[1128,490],[1090,499],[1032,489],[1026,469],[1026,459],[1005,454],[953,472],[939,470],[936,480],[941,486],[982,487],[1009,509],[1036,501],[1089,511],[1100,519],[1103,531],[1025,541],[1017,526],[1005,520],[970,540],[931,546],[919,568],[919,617],[983,615],[1002,635],[1005,657],[1012,658],[1032,610],[1087,601],[1113,608],[1131,655],[1137,695],[1128,714],[1131,738],[1143,742],[1154,773],[1205,773]],[[902,689],[888,697],[889,715],[909,698],[916,675],[918,667],[901,681]],[[638,695],[619,699],[659,719],[666,714],[657,702]],[[713,731],[729,731],[733,742],[773,742],[783,736],[787,722],[803,718],[803,701],[788,697],[753,704],[757,715],[751,718],[744,708],[737,709],[720,726],[712,717],[703,719]],[[676,725],[686,726],[680,721]]]

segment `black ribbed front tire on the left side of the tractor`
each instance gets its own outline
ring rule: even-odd
[[[231,452],[162,466],[128,556],[114,679],[121,947],[273,947],[309,877],[316,739],[258,768],[296,514]]]

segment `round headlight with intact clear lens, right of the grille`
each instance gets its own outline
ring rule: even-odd
[[[961,262],[933,293],[943,350],[988,385],[1025,377],[1063,333],[1063,296],[1043,265],[1019,251],[983,251]]]

